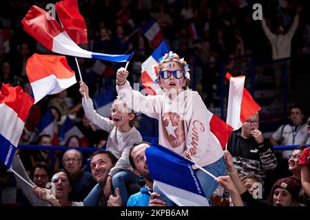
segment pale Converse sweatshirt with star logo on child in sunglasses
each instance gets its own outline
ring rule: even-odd
[[[130,83],[116,85],[118,96],[127,107],[158,120],[159,144],[206,166],[223,157],[223,150],[210,132],[212,113],[197,91],[185,90],[171,100],[166,94],[143,96]],[[195,168],[195,166],[194,166]]]

